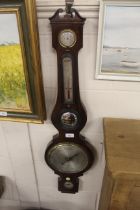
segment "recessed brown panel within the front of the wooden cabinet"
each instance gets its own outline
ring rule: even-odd
[[[140,177],[137,177],[140,180]],[[140,187],[135,175],[122,174],[116,179],[109,210],[139,210]]]

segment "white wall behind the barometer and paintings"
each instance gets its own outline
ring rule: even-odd
[[[43,79],[48,120],[43,125],[0,122],[0,175],[6,191],[0,209],[41,206],[54,210],[97,210],[104,170],[103,117],[140,118],[140,83],[95,80],[99,3],[75,0],[75,8],[87,18],[84,46],[79,53],[79,80],[88,121],[82,134],[98,151],[98,162],[80,178],[79,193],[57,191],[57,175],[44,161],[44,152],[57,133],[50,121],[57,90],[56,53],[51,46],[48,17],[62,0],[37,0]],[[13,208],[11,208],[13,207]]]

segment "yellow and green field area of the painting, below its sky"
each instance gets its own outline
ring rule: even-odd
[[[0,45],[0,109],[29,109],[20,45]]]

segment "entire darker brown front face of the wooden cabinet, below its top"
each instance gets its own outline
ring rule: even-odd
[[[105,170],[99,210],[139,210],[139,184],[137,174],[119,174],[112,180],[111,174]]]

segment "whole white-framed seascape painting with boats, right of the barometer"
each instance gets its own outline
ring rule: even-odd
[[[101,1],[96,79],[140,81],[139,1]]]

